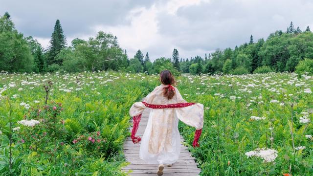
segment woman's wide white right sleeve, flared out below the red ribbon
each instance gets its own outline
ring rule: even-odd
[[[203,114],[203,105],[200,103],[175,110],[175,115],[179,120],[197,130],[203,127]]]

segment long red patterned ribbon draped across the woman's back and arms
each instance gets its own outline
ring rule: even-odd
[[[188,106],[196,104],[196,103],[175,103],[175,104],[168,104],[168,105],[154,105],[154,104],[149,104],[146,102],[142,102],[142,103],[147,108],[151,108],[151,109],[184,108],[184,107],[188,107]],[[137,144],[141,141],[141,138],[139,136],[135,136],[135,134],[139,128],[140,119],[141,119],[141,114],[133,117],[133,129],[132,129],[131,138],[132,138],[132,141],[134,144]],[[194,141],[192,142],[193,147],[199,147],[198,141],[199,141],[199,138],[201,136],[201,132],[202,132],[202,129],[196,130]]]

